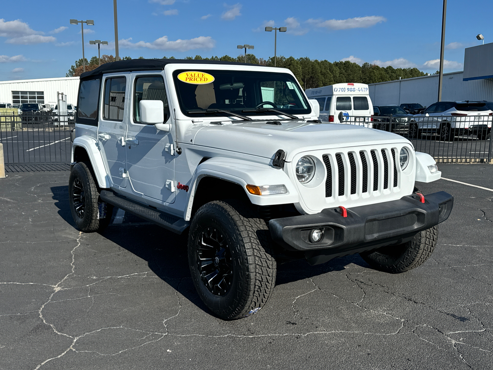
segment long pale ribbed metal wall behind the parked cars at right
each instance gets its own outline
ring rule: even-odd
[[[374,105],[420,103],[429,107],[437,102],[438,74],[368,85]],[[486,100],[493,102],[493,80],[462,81],[462,71],[443,75],[442,101]]]

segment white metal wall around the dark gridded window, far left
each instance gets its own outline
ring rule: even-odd
[[[0,81],[0,102],[12,103],[12,91],[43,91],[45,103],[56,103],[57,91],[67,95],[67,103],[77,105],[79,77]]]

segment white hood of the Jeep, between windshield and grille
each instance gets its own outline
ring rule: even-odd
[[[282,149],[287,162],[307,150],[358,147],[372,142],[410,144],[402,136],[350,124],[286,121],[273,125],[266,122],[203,126],[198,128],[193,143],[266,158],[273,158],[274,153]]]

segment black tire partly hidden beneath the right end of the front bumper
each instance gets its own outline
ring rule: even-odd
[[[420,191],[415,187],[414,192]],[[418,232],[407,243],[385,246],[359,255],[376,270],[398,274],[422,265],[433,253],[437,238],[438,226],[435,225]]]

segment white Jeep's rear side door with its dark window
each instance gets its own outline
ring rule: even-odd
[[[98,142],[105,162],[106,171],[113,185],[127,186],[125,173],[125,139],[127,126],[126,97],[129,95],[130,74],[105,76],[103,80],[103,102],[98,127]],[[127,105],[128,106],[128,105]]]

